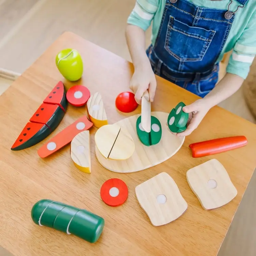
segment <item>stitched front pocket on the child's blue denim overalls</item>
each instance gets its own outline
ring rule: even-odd
[[[214,30],[190,27],[170,16],[165,49],[179,61],[202,60],[215,32]]]

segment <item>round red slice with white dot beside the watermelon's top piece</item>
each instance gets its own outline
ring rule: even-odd
[[[90,98],[90,91],[83,85],[75,85],[68,89],[67,100],[73,106],[83,106]]]

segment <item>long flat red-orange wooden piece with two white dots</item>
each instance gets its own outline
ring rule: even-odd
[[[51,140],[45,143],[38,150],[38,155],[42,158],[47,157],[60,148],[66,146],[72,141],[72,139],[80,132],[89,130],[93,126],[87,116],[82,116],[77,119],[73,124],[69,125],[58,134],[56,134]]]

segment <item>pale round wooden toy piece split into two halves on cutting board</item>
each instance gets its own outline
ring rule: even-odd
[[[129,158],[135,145],[129,131],[119,125],[104,125],[95,133],[95,145],[105,158],[124,160]]]

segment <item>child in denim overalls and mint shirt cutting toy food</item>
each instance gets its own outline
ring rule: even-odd
[[[145,52],[152,20],[152,44]],[[139,104],[147,89],[154,100],[155,74],[202,97],[183,108],[188,126],[177,136],[187,136],[246,79],[256,55],[256,1],[137,0],[126,39],[134,65],[130,87]],[[216,85],[218,63],[232,49],[227,74]]]

